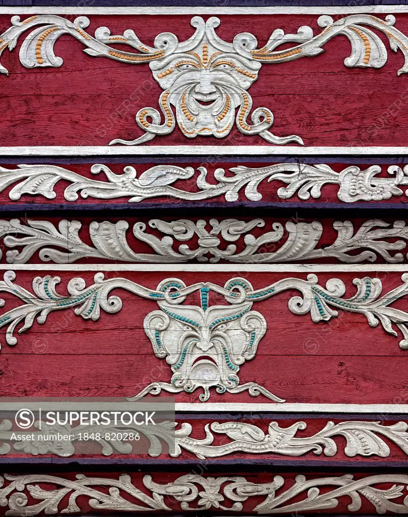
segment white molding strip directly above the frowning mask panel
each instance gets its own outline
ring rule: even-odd
[[[408,264],[0,264],[0,271],[408,272]],[[407,406],[408,407],[408,406]]]

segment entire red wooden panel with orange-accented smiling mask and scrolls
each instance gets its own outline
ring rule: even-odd
[[[57,7],[43,14],[41,8],[29,10],[25,16],[17,16],[17,10],[12,17],[0,15],[0,53],[3,63],[7,61],[0,72],[23,76],[15,99],[15,84],[2,78],[12,114],[2,141],[7,148],[150,148],[145,144],[153,139],[162,154],[168,154],[168,145],[182,145],[190,152],[193,143],[215,146],[220,154],[225,147],[217,145],[220,141],[232,151],[243,145],[277,144],[292,153],[303,144],[327,149],[406,145],[398,116],[406,102],[406,79],[396,77],[396,71],[400,75],[407,70],[408,18],[398,7],[390,6],[389,13],[368,8],[356,14],[340,7],[333,17],[322,11],[323,16],[296,13],[295,19],[290,8],[287,14],[277,9],[276,14],[261,16],[262,11],[256,14],[249,7],[240,14],[232,10],[228,17],[211,16],[217,15],[214,8],[205,18],[191,16],[186,9],[176,19],[152,9],[154,25],[143,16],[115,16],[100,8],[89,8],[89,17],[77,18],[59,16]],[[168,27],[168,32],[158,34],[153,26]],[[83,53],[73,39],[83,45]],[[19,63],[5,51],[20,43]],[[398,52],[398,60],[388,56],[388,48]],[[58,73],[61,55],[65,64]],[[311,59],[313,81],[308,73]],[[90,66],[93,60],[95,66]],[[387,60],[391,63],[385,66]],[[21,65],[56,70],[39,76]],[[371,70],[358,72],[364,68]],[[331,85],[327,92],[328,73],[343,74],[347,81]],[[85,92],[80,84],[89,85]],[[67,98],[62,103],[58,88]],[[354,96],[340,102],[348,94],[344,88]],[[41,104],[34,101],[24,119],[26,98],[39,91]],[[305,103],[310,110],[302,110]],[[392,121],[381,127],[376,118],[390,110],[390,104],[395,104]],[[27,119],[33,125],[28,131]],[[324,131],[327,125],[332,127]],[[143,147],[136,153],[143,155]]]

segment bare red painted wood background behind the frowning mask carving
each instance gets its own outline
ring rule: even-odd
[[[81,276],[87,285],[93,273],[58,271],[62,280],[57,287],[66,293],[66,284]],[[372,273],[368,273],[373,276]],[[32,291],[36,272],[17,272],[16,284]],[[190,285],[212,281],[219,285],[233,277],[245,277],[254,288],[261,288],[282,278],[281,273],[207,272],[106,272],[106,278],[125,277],[155,288],[164,278],[179,277]],[[304,273],[288,273],[286,277],[306,279]],[[359,273],[319,273],[319,284],[340,278],[347,286],[346,297],[355,294],[352,280],[363,278]],[[400,273],[378,274],[383,293],[401,284]],[[114,293],[115,294],[115,293]],[[128,292],[117,292],[123,308],[115,315],[102,312],[100,320],[84,321],[72,309],[53,312],[44,325],[34,323],[23,332],[16,346],[2,349],[0,394],[2,396],[118,396],[136,395],[151,382],[169,382],[170,367],[154,356],[143,321],[147,313],[158,309],[156,302],[138,298]],[[362,314],[339,311],[331,323],[312,323],[309,314],[292,314],[288,301],[296,291],[285,291],[267,300],[254,303],[266,320],[266,334],[258,345],[253,360],[240,369],[241,384],[256,381],[278,397],[291,403],[402,404],[406,399],[408,352],[383,328],[369,327]],[[13,295],[2,293],[5,310],[22,305]],[[187,302],[184,302],[184,305]],[[189,296],[189,305],[199,303],[198,295]],[[221,295],[210,293],[210,305],[228,305]],[[397,300],[393,307],[406,311],[406,300]],[[2,312],[3,313],[3,312]],[[4,328],[2,329],[4,336]],[[176,395],[177,402],[198,402],[200,390]],[[165,393],[164,393],[164,396]],[[211,402],[268,402],[247,392],[239,394],[211,393]]]

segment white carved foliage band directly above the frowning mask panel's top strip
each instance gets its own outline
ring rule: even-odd
[[[8,248],[21,247],[21,251],[6,251],[6,261],[9,264],[25,264],[37,251],[41,261],[57,264],[71,264],[82,258],[177,264],[193,260],[261,264],[326,260],[331,257],[339,262],[358,263],[374,262],[378,255],[386,262],[395,264],[403,262],[404,255],[389,252],[405,250],[408,239],[408,227],[404,221],[394,221],[389,227],[389,223],[380,219],[364,221],[355,233],[351,221],[335,221],[333,229],[337,232],[337,237],[332,245],[326,244],[324,247],[319,244],[323,233],[323,225],[319,221],[288,221],[285,228],[274,222],[272,231],[264,232],[259,237],[249,232],[256,227],[263,228],[263,219],[199,219],[196,222],[189,219],[151,219],[149,226],[163,236],[145,233],[146,224],[143,222],[137,222],[132,233],[140,242],[148,244],[154,253],[138,253],[132,249],[134,245],[128,242],[127,221],[92,221],[89,224],[89,238],[93,246],[86,244],[80,236],[82,223],[66,219],[59,221],[58,228],[50,221],[28,219],[24,224],[18,219],[3,219],[0,220],[0,238],[4,237],[4,244]],[[198,237],[197,245],[191,249],[190,244],[184,243],[194,235]],[[236,244],[226,244],[237,242],[242,236],[245,245],[242,251],[237,252]],[[174,239],[183,244],[176,247]],[[284,242],[274,245],[281,240]],[[361,251],[353,253],[357,250]]]

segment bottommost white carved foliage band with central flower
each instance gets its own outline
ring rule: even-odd
[[[81,499],[92,509],[132,514],[174,511],[174,505],[167,506],[170,501],[177,501],[183,511],[194,512],[210,509],[240,512],[247,501],[247,512],[297,514],[336,508],[340,501],[342,504],[347,501],[349,512],[358,512],[364,503],[369,505],[370,511],[380,515],[408,513],[408,476],[398,473],[358,476],[357,479],[352,474],[326,477],[299,474],[294,480],[290,476],[275,475],[264,483],[247,481],[242,476],[197,474],[186,474],[165,484],[154,482],[150,475],[137,481],[128,474],[118,478],[76,474],[73,480],[48,474],[5,474],[0,481],[3,486],[0,501],[7,508],[6,515],[14,517],[42,512],[50,515],[57,511],[79,514]],[[264,496],[261,501],[260,496]]]

